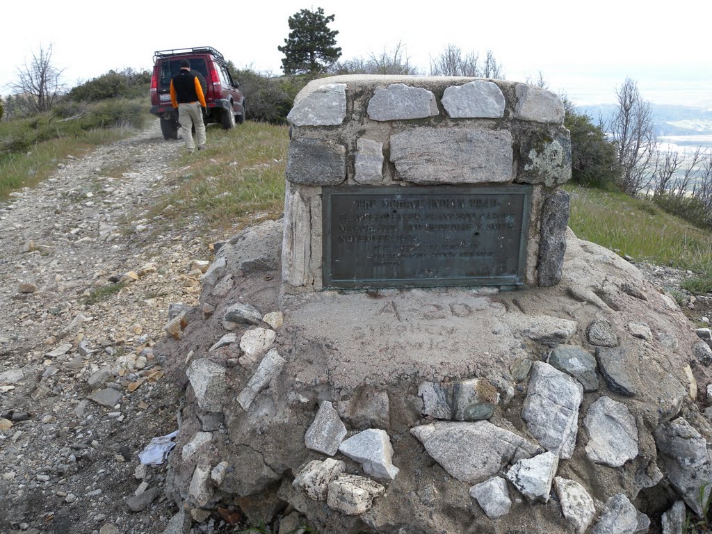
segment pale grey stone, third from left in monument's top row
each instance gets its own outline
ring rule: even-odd
[[[504,117],[504,95],[496,83],[473,80],[464,85],[451,85],[442,98],[443,107],[452,118]]]

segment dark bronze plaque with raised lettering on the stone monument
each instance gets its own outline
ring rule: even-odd
[[[531,187],[324,187],[326,288],[520,286]]]

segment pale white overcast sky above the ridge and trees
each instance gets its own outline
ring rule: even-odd
[[[233,6],[230,9],[227,6]],[[646,100],[712,108],[712,2],[184,0],[5,2],[0,11],[0,94],[40,46],[69,86],[110,69],[151,68],[156,50],[213,46],[236,66],[281,73],[277,46],[300,9],[335,14],[342,60],[402,43],[427,73],[448,43],[481,56],[491,49],[508,80],[538,78],[575,103],[610,103],[626,76]],[[221,11],[221,6],[222,11]],[[642,9],[638,6],[643,6]],[[674,9],[674,11],[673,11]]]

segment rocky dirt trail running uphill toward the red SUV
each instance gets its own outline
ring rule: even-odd
[[[177,429],[152,345],[210,259],[197,225],[144,219],[181,148],[156,123],[0,204],[0,533],[156,533],[172,515],[164,466],[135,468]]]

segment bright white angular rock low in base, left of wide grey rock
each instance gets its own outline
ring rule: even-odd
[[[388,434],[380,429],[368,429],[342,441],[339,452],[359,462],[363,470],[376,478],[393,480],[399,468],[393,465],[393,447]]]

